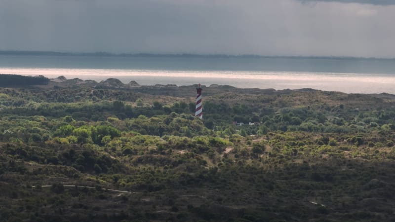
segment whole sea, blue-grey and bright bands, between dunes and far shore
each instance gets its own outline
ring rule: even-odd
[[[395,94],[395,59],[0,55],[0,74]]]

